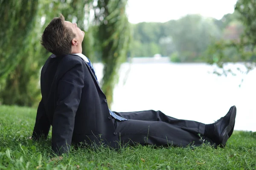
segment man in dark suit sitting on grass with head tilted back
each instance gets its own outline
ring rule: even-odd
[[[52,150],[67,153],[71,144],[118,148],[121,144],[199,146],[206,139],[224,147],[232,135],[236,107],[214,124],[179,120],[160,111],[112,112],[90,60],[82,55],[84,32],[55,17],[41,43],[52,55],[41,70],[42,99],[32,138],[46,138],[52,125]],[[200,135],[199,135],[200,134]]]

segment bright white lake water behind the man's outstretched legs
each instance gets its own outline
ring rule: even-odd
[[[94,63],[102,78],[102,63]],[[236,69],[241,64],[230,64]],[[179,119],[213,123],[236,105],[235,130],[256,131],[256,69],[227,77],[212,74],[205,63],[169,63],[136,59],[123,63],[111,109],[117,112],[161,110]],[[243,83],[241,84],[241,80]],[[239,87],[241,84],[241,87]]]

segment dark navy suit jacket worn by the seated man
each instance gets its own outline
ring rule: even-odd
[[[41,94],[33,139],[47,137],[52,125],[52,150],[57,154],[80,142],[116,148],[106,96],[79,56],[51,55],[41,70]]]

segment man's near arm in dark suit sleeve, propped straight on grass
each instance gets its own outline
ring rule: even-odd
[[[81,63],[68,70],[58,82],[58,100],[52,120],[52,150],[58,155],[67,153],[70,149],[83,87],[84,72]]]

